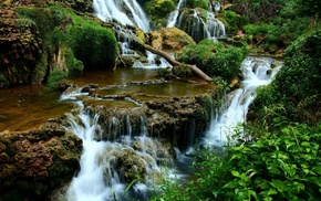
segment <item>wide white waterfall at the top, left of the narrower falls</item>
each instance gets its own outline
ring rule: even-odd
[[[149,21],[136,0],[94,0],[94,11],[103,21],[117,21],[149,31]]]

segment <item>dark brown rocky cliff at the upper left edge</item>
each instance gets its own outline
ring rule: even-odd
[[[30,84],[42,41],[33,22],[18,19],[14,9],[0,9],[0,88]]]

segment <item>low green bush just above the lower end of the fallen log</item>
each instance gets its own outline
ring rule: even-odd
[[[240,74],[239,67],[246,53],[246,49],[224,46],[219,42],[206,39],[199,44],[185,46],[182,61],[196,64],[209,76],[221,76],[229,81],[234,75]]]

